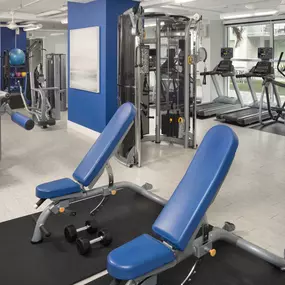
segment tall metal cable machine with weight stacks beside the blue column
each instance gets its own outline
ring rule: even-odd
[[[156,21],[156,35],[151,50],[145,38],[145,20]],[[117,152],[117,158],[131,167],[142,165],[142,143],[162,141],[196,148],[196,76],[201,17],[145,14],[136,7],[119,20],[119,104],[132,102],[138,112]],[[166,56],[162,39],[168,42]],[[165,53],[165,52],[164,52]],[[150,107],[150,61],[155,66],[156,99]],[[162,90],[162,86],[164,90]],[[165,100],[162,100],[162,98]],[[190,108],[193,116],[190,118]],[[155,134],[150,134],[150,120],[155,120]]]

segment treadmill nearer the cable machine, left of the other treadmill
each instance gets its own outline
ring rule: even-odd
[[[204,103],[197,106],[198,118],[209,118],[219,113],[238,110],[243,107],[243,101],[238,89],[235,70],[231,59],[233,58],[233,48],[222,48],[221,57],[223,60],[215,67],[213,71],[202,72],[201,75],[211,76],[218,97],[211,103]],[[237,95],[237,98],[224,96],[219,86],[217,76],[230,77]]]

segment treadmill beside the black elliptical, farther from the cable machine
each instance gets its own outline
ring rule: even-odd
[[[218,120],[224,121],[229,124],[239,125],[242,127],[259,122],[260,104],[263,104],[263,102],[260,102],[257,99],[255,90],[252,86],[251,79],[253,77],[259,77],[264,79],[265,77],[274,74],[274,69],[272,63],[270,62],[270,60],[273,58],[273,49],[259,48],[258,58],[261,59],[261,61],[259,61],[248,73],[239,74],[236,76],[236,78],[246,78],[253,99],[253,103],[240,110],[217,114]],[[262,92],[264,92],[264,88]],[[267,107],[262,106],[262,108],[264,109],[262,111],[262,120],[269,120],[270,114],[268,112]]]

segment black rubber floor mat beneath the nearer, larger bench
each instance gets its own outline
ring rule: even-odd
[[[284,285],[285,272],[225,242],[215,244],[216,257],[205,256],[188,285]],[[180,285],[195,263],[193,257],[162,273],[158,285]],[[88,285],[110,285],[104,276]],[[123,283],[124,284],[124,283]],[[120,284],[121,285],[121,284]]]

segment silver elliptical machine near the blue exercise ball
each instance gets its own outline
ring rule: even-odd
[[[31,100],[27,99],[27,86],[30,80]],[[57,87],[46,87],[42,64],[26,77],[25,91],[18,81],[20,94],[25,109],[32,115],[33,121],[43,129],[54,126],[60,115],[60,90]],[[53,92],[49,92],[53,91]]]

